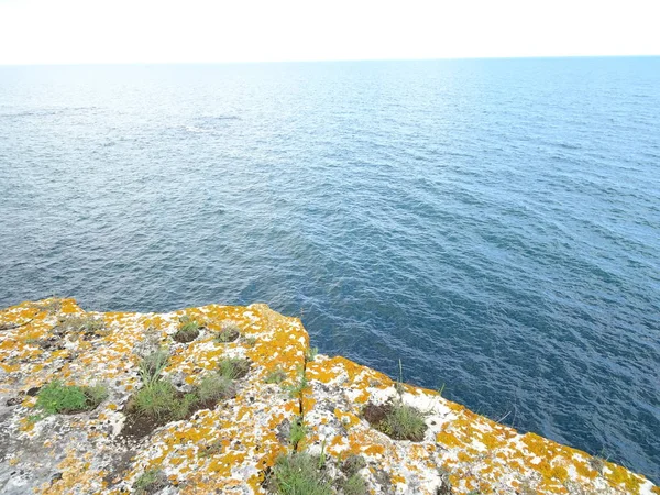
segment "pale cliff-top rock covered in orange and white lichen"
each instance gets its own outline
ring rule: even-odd
[[[63,332],[58,322],[72,315],[82,329],[92,317],[94,333]],[[173,340],[183,316],[204,324],[190,342]],[[241,338],[217,339],[227,321]],[[660,494],[641,475],[520,435],[436,392],[343,358],[311,361],[300,320],[266,305],[96,314],[45,299],[0,311],[0,493],[267,493],[276,460],[296,450],[318,459],[334,493],[356,476],[374,494]],[[198,400],[178,420],[145,420],[146,436],[128,437],[127,415],[146,383],[140,363],[158,349],[169,359],[150,373],[172,384],[177,400],[201,394],[222,360],[250,365],[233,376],[231,394]],[[101,385],[107,397],[46,416],[40,391],[54,381]],[[394,410],[413,416],[414,433],[389,421]]]

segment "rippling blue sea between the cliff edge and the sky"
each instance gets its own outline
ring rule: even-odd
[[[0,67],[0,306],[266,301],[660,482],[660,58]]]

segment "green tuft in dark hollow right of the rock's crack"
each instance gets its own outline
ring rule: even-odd
[[[405,404],[387,404],[384,406],[367,405],[364,410],[366,420],[378,431],[395,440],[424,440],[427,429],[424,415]]]

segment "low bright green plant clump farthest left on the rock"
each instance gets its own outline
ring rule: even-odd
[[[79,387],[54,381],[38,391],[36,407],[46,415],[75,414],[95,409],[107,397],[108,391],[101,385]]]

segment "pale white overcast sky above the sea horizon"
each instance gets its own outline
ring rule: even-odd
[[[660,0],[0,0],[0,64],[660,54]]]

